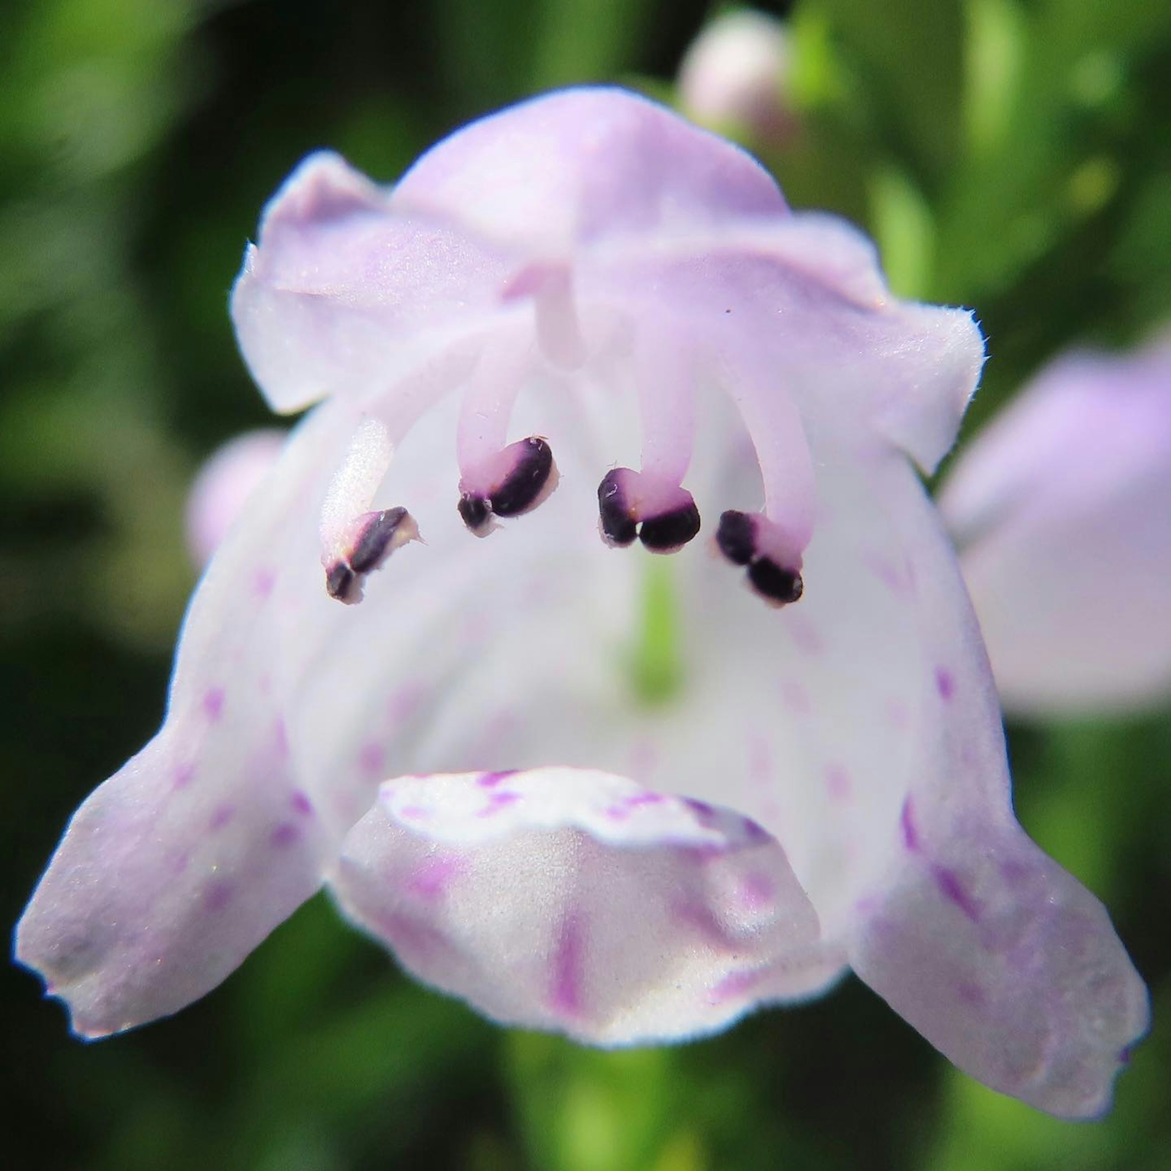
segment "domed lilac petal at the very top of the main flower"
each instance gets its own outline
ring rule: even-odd
[[[391,205],[539,255],[786,211],[745,151],[607,87],[561,90],[473,122],[406,172]]]

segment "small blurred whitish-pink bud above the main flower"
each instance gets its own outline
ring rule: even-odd
[[[789,95],[792,68],[781,21],[752,8],[725,12],[684,55],[679,101],[704,125],[778,145],[799,126]]]

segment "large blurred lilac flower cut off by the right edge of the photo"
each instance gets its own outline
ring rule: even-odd
[[[1171,694],[1171,341],[1052,363],[963,452],[940,507],[1006,708]]]

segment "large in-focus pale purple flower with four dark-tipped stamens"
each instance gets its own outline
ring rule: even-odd
[[[1013,820],[908,459],[952,443],[967,313],[895,300],[854,230],[608,89],[392,191],[307,159],[232,313],[274,408],[322,402],[21,923],[78,1033],[182,1008],[326,883],[500,1021],[672,1040],[852,967],[988,1084],[1107,1107],[1146,993]]]

